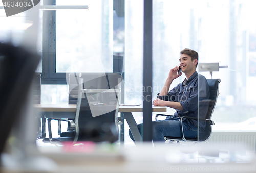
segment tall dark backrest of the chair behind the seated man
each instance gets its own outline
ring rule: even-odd
[[[219,84],[220,84],[221,80],[220,79],[207,79],[207,82],[210,87],[210,97],[209,97],[209,100],[207,100],[209,102],[209,105],[208,105],[208,111],[206,114],[206,119],[211,119],[211,116],[214,112],[214,108],[215,108],[217,98],[219,95]],[[210,135],[211,135],[211,125],[209,122],[206,122],[206,126],[205,126],[204,130],[199,131],[199,141],[207,140],[210,137]]]

